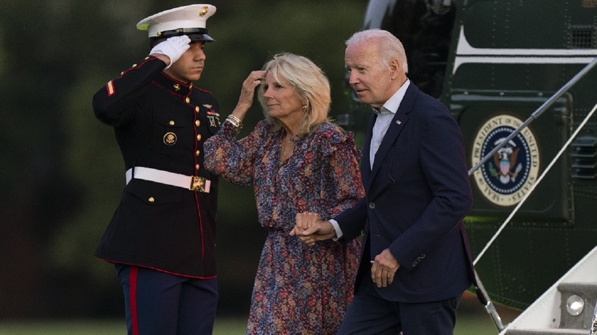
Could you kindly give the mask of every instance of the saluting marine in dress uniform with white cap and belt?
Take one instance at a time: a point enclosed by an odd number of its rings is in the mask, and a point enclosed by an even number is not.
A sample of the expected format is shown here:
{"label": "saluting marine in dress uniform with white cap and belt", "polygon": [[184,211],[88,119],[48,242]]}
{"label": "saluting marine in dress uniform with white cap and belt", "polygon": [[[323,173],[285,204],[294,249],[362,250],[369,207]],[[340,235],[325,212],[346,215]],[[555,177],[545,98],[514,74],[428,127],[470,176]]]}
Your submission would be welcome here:
{"label": "saluting marine in dress uniform with white cap and belt", "polygon": [[141,20],[150,55],[93,98],[113,126],[127,186],[94,254],[115,263],[128,334],[211,334],[216,313],[217,184],[203,143],[220,127],[214,97],[196,88],[216,8],[189,5]]}

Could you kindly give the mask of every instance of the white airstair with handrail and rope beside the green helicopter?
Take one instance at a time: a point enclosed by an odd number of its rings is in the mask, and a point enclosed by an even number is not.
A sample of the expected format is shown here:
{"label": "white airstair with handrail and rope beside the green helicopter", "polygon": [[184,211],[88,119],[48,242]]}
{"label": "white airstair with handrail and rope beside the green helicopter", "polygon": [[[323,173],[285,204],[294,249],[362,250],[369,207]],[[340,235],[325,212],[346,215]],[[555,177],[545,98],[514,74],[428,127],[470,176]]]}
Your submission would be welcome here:
{"label": "white airstair with handrail and rope beside the green helicopter", "polygon": [[[537,109],[531,117],[526,120],[518,129],[512,132],[507,137],[502,145],[497,145],[494,150],[488,153],[484,159],[482,159],[475,167],[469,170],[471,175],[476,169],[479,168],[487,159],[493,156],[503,144],[506,144],[510,139],[516,136],[522,131],[529,123],[537,119],[547,110],[547,108],[553,104],[559,97],[561,97],[571,86],[574,85],[581,77],[583,77],[589,70],[597,64],[597,58],[581,70],[573,79],[570,80],[566,85],[562,86],[556,94],[554,94],[549,100],[547,100],[543,106]],[[590,116],[597,110],[597,105],[593,107],[593,110],[587,115],[586,119],[581,123],[578,129],[574,132],[568,142],[564,145],[562,150],[553,159],[552,163],[547,166],[543,175],[549,171],[553,163],[558,157],[564,152],[564,150],[570,145],[574,137],[578,134],[578,131],[584,126]],[[488,247],[500,234],[501,230],[510,221],[512,216],[518,211],[522,203],[532,193],[534,187],[543,178],[541,175],[537,179],[537,182],[531,187],[531,190],[525,195],[520,201],[518,206],[512,211],[510,216],[504,221],[500,229],[496,232],[493,238],[489,241],[487,246],[479,253],[473,265],[478,262],[479,258],[484,255]],[[597,243],[597,241],[596,241]],[[475,274],[476,275],[476,274]],[[573,268],[571,268],[562,278],[560,278],[549,290],[541,295],[531,306],[529,306],[521,315],[519,315],[510,324],[503,325],[501,318],[497,314],[493,303],[489,297],[489,294],[484,289],[481,280],[476,275],[478,281],[478,297],[485,305],[485,309],[490,314],[494,324],[500,331],[500,335],[597,335],[597,247],[589,252],[583,259],[581,259]]]}

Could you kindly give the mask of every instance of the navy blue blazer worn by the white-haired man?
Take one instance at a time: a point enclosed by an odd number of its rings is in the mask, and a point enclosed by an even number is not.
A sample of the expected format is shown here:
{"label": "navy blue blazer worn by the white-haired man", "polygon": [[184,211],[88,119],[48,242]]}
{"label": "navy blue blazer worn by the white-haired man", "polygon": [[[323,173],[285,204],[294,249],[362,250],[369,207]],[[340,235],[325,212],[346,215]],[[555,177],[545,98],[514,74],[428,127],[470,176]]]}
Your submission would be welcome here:
{"label": "navy blue blazer worn by the white-haired man", "polygon": [[[365,198],[338,215],[348,241],[364,231],[355,288],[384,249],[398,260],[381,297],[401,302],[448,299],[475,283],[463,218],[472,193],[463,137],[450,111],[411,82],[370,168],[372,113],[361,175]],[[367,276],[365,276],[367,275]]]}

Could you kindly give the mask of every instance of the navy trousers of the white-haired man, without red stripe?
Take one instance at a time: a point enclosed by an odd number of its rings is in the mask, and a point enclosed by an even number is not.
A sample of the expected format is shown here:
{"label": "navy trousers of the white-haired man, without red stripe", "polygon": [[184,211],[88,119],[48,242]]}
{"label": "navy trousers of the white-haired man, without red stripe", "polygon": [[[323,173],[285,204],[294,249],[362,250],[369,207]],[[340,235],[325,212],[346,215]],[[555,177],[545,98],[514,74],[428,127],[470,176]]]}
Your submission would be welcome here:
{"label": "navy trousers of the white-haired man, without red stripe", "polygon": [[337,335],[452,335],[462,296],[424,303],[383,299],[371,272],[356,290]]}

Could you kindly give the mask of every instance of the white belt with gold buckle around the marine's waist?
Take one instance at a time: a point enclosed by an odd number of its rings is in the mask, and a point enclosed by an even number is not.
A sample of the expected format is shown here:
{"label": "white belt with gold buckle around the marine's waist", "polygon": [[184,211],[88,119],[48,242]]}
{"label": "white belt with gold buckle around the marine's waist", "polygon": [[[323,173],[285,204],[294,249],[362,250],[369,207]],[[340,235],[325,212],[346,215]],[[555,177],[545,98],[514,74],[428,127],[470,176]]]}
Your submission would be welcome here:
{"label": "white belt with gold buckle around the marine's waist", "polygon": [[152,168],[143,168],[142,166],[136,166],[127,170],[127,184],[131,181],[131,179],[133,179],[133,169],[135,170],[135,179],[143,179],[147,181],[159,182],[160,184],[182,187],[186,188],[187,190],[210,193],[211,181],[206,178],[186,176],[181,175],[180,173]]}

